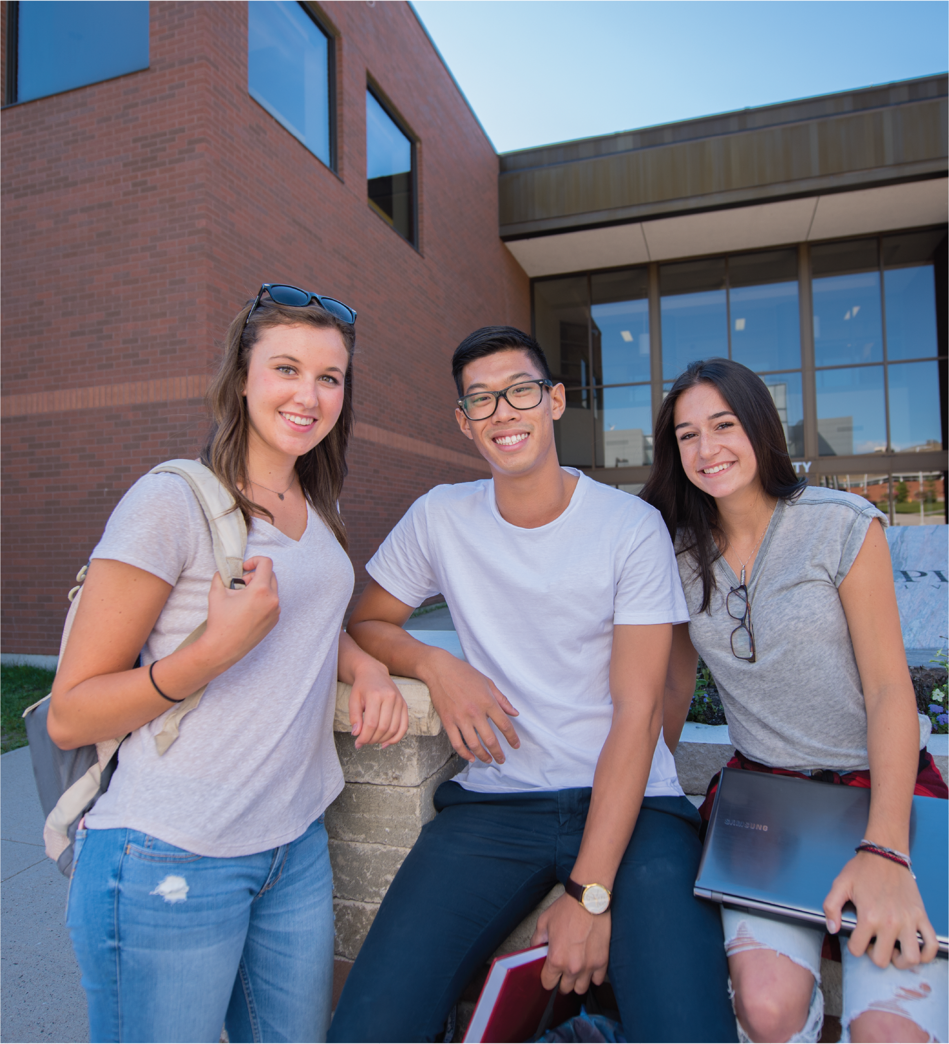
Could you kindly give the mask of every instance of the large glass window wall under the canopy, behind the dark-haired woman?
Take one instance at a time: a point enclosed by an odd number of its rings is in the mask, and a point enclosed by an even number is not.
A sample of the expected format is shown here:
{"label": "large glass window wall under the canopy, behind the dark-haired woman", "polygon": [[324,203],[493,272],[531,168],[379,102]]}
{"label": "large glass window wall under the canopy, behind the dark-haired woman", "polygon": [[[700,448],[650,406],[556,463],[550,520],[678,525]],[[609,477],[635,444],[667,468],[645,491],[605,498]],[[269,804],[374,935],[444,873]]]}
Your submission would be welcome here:
{"label": "large glass window wall under the canopy, behind the dark-haired woman", "polygon": [[[949,283],[945,228],[537,279],[535,335],[567,389],[561,460],[650,465],[664,393],[689,362],[710,356],[760,375],[801,474],[805,456],[867,456],[879,471],[870,458],[941,451],[949,358],[939,355],[940,279]],[[926,481],[924,468],[916,484]],[[940,500],[942,489],[940,478]]]}

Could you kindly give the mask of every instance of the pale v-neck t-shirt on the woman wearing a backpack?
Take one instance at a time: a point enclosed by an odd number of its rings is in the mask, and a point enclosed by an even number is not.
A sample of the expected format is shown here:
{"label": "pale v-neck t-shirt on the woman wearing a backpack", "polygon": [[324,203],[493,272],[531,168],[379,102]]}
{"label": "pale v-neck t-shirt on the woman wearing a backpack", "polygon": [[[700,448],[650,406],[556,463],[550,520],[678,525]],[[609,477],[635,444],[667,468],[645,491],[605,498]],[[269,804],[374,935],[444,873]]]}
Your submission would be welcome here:
{"label": "pale v-neck t-shirt on the woman wearing a backpack", "polygon": [[[312,507],[298,542],[253,519],[247,557],[257,554],[273,560],[279,622],[208,686],[164,755],[154,737],[165,714],[128,737],[108,790],[86,816],[91,829],[141,830],[199,855],[249,855],[299,837],[342,790],[333,716],[352,566]],[[211,532],[178,475],[140,478],[92,557],[138,566],[173,586],[144,664],[174,651],[206,618],[216,571]]]}

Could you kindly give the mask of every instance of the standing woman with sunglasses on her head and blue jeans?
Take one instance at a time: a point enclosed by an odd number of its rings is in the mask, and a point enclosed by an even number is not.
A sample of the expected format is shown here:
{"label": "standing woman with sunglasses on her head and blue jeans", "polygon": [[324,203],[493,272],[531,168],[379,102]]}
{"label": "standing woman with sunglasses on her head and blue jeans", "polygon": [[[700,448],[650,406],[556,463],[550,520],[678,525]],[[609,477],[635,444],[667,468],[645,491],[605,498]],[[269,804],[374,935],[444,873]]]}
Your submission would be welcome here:
{"label": "standing woman with sunglasses on her head and blue jeans", "polygon": [[[67,750],[129,734],[76,834],[67,911],[96,1044],[217,1044],[225,1020],[232,1044],[325,1038],[337,678],[358,746],[408,727],[340,630],[355,318],[265,284],[227,332],[202,460],[247,523],[244,590],[224,587],[177,474],[140,478],[93,551],[47,727]],[[166,717],[205,685],[163,751]]]}

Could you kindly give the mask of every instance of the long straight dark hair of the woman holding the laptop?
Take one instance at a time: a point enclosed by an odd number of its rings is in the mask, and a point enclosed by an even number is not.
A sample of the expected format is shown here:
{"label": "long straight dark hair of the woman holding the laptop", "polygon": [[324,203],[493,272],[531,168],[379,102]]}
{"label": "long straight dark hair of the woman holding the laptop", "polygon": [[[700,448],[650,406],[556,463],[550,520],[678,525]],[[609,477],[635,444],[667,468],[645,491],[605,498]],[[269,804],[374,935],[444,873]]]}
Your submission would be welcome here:
{"label": "long straight dark hair of the woman holding the laptop", "polygon": [[689,481],[682,468],[676,438],[676,402],[697,384],[716,387],[745,429],[758,465],[758,478],[770,497],[792,500],[807,479],[795,475],[787,452],[781,418],[766,385],[755,373],[731,359],[700,359],[690,362],[659,407],[653,440],[653,470],[639,496],[658,507],[673,541],[678,537],[680,554],[691,555],[696,576],[702,577],[702,611],[708,609],[715,582],[712,566],[722,551],[715,500]]}

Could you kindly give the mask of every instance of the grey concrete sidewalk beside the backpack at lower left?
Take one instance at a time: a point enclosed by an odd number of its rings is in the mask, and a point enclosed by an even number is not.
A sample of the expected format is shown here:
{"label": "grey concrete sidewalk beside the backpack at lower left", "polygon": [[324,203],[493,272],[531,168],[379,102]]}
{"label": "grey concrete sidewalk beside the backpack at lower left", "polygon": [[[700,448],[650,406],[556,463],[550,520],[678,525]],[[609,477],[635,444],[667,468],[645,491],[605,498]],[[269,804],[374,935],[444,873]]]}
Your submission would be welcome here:
{"label": "grey concrete sidewalk beside the backpack at lower left", "polygon": [[68,881],[43,851],[26,746],[0,756],[0,1041],[89,1044],[86,995],[66,930]]}

